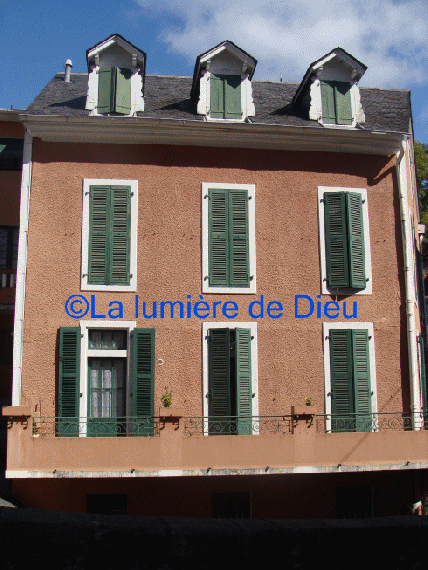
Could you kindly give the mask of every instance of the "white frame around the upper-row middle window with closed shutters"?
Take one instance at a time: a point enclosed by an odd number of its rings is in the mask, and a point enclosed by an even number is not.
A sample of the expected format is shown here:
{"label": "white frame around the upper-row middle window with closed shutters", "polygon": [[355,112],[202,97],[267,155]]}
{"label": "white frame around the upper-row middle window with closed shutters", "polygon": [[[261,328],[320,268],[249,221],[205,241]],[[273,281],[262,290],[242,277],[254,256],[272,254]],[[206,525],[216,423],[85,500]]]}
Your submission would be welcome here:
{"label": "white frame around the upper-row middle window with closed shutters", "polygon": [[[248,191],[248,240],[249,240],[249,273],[252,279],[249,287],[219,287],[210,286],[208,280],[208,190],[247,190]],[[202,292],[203,293],[256,293],[256,209],[254,184],[225,184],[219,182],[202,182]]]}

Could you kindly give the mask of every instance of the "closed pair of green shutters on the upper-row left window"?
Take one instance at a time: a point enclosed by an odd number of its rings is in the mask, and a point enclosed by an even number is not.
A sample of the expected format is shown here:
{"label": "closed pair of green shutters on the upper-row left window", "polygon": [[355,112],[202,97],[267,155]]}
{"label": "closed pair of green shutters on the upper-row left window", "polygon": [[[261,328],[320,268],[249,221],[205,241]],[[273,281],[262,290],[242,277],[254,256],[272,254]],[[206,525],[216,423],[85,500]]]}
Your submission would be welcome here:
{"label": "closed pair of green shutters on the upper-row left window", "polygon": [[89,190],[88,283],[130,283],[130,186]]}

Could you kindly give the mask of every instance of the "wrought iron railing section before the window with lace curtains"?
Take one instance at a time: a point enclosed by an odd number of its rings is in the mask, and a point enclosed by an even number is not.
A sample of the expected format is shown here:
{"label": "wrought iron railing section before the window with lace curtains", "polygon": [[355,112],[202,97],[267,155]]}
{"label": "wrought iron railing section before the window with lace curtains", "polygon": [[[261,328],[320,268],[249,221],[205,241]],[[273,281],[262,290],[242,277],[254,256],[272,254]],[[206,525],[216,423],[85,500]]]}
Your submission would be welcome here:
{"label": "wrought iron railing section before the window with lace curtains", "polygon": [[35,437],[145,437],[159,436],[159,418],[33,417]]}

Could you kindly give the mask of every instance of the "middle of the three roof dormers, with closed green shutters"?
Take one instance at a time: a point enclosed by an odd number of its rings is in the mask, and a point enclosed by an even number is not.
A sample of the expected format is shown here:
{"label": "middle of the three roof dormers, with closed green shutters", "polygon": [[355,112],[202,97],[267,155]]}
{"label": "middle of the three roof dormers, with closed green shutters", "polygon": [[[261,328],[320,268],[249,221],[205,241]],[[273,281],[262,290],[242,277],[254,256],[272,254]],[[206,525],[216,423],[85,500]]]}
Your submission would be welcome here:
{"label": "middle of the three roof dormers, with closed green shutters", "polygon": [[191,98],[208,120],[255,115],[251,79],[257,60],[226,40],[196,58]]}

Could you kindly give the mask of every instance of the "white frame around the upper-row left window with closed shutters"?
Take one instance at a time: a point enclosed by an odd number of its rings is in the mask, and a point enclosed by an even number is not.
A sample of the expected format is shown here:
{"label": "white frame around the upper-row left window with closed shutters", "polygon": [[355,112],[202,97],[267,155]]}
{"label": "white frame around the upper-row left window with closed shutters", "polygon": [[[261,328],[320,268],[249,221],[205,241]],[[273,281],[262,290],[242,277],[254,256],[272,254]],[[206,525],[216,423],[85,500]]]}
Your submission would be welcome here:
{"label": "white frame around the upper-row left window with closed shutters", "polygon": [[[131,224],[130,224],[130,282],[129,285],[112,283],[110,285],[88,283],[89,263],[89,188],[90,186],[130,186],[131,187]],[[83,215],[82,215],[82,291],[137,291],[137,235],[138,235],[138,180],[119,180],[104,178],[84,178],[83,180]]]}

